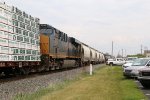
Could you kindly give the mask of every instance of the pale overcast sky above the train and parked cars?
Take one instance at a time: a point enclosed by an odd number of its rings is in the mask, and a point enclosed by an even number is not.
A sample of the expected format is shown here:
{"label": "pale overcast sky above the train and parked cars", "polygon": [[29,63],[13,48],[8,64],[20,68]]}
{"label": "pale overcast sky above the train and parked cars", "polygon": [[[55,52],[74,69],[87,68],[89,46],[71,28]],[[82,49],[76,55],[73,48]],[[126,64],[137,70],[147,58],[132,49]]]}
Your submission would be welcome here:
{"label": "pale overcast sky above the train and parked cars", "polygon": [[1,0],[102,52],[150,48],[150,0]]}

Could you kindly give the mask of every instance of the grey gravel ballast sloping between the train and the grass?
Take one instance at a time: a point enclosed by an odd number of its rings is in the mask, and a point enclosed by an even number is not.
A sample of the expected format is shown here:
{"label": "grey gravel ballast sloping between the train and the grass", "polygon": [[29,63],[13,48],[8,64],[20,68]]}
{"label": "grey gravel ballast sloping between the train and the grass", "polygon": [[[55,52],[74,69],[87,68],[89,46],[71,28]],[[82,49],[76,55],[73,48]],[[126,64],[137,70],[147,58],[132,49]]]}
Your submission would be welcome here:
{"label": "grey gravel ballast sloping between the train and the grass", "polygon": [[[95,65],[98,68],[101,65]],[[61,83],[64,80],[74,79],[82,72],[87,72],[89,67],[76,68],[63,72],[39,75],[32,78],[25,78],[16,81],[0,83],[0,100],[12,100],[17,94],[34,93],[49,85]]]}

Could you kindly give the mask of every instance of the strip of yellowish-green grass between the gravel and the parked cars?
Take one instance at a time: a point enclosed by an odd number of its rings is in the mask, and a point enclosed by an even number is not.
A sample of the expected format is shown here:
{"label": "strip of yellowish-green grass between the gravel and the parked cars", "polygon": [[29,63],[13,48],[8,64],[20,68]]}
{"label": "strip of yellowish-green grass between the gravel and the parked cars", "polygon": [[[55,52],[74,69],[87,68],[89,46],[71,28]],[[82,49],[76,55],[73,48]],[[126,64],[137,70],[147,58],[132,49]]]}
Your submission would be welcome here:
{"label": "strip of yellowish-green grass between the gravel and the parked cars", "polygon": [[131,79],[125,79],[120,67],[103,67],[93,76],[65,81],[31,95],[19,95],[16,100],[147,100]]}

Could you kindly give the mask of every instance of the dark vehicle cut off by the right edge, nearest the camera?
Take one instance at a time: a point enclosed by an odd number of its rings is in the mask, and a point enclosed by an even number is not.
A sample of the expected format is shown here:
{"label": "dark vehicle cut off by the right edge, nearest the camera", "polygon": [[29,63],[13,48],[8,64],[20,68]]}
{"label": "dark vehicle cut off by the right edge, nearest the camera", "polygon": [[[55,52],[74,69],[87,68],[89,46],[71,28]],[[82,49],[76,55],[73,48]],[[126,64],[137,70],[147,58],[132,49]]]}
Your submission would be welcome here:
{"label": "dark vehicle cut off by the right edge, nearest the camera", "polygon": [[150,88],[150,62],[147,68],[140,70],[138,80],[145,88]]}

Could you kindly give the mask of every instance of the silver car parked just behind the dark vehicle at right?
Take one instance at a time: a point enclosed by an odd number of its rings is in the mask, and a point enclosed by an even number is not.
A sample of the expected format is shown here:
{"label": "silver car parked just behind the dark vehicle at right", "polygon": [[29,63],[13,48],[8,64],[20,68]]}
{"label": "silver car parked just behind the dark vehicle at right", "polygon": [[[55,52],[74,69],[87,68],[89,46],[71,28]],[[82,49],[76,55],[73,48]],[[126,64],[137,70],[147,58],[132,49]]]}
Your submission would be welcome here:
{"label": "silver car parked just behind the dark vehicle at right", "polygon": [[125,77],[138,77],[139,70],[147,68],[150,58],[140,58],[132,63],[130,67],[124,68],[123,75]]}

